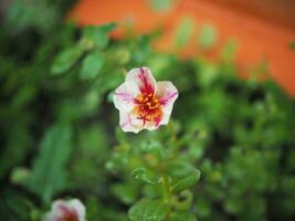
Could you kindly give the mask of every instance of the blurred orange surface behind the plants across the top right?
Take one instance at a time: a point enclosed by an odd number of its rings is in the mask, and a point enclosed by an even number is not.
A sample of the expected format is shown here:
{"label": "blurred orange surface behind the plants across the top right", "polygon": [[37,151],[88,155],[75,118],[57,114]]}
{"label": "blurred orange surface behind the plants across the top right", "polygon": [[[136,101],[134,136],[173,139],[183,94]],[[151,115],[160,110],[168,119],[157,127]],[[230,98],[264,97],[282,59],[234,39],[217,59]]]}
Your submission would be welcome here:
{"label": "blurred orange surface behind the plants across the top right", "polygon": [[[175,0],[165,11],[155,11],[149,0],[81,0],[70,18],[81,25],[131,21],[137,33],[162,28],[156,44],[162,51],[175,51],[173,34],[181,19],[192,19],[196,32],[210,23],[218,30],[215,52],[229,40],[238,42],[235,62],[242,75],[266,61],[271,76],[295,96],[295,50],[289,46],[295,42],[294,11],[293,0]],[[122,38],[124,31],[113,34]],[[197,54],[193,41],[180,51],[181,56]]]}

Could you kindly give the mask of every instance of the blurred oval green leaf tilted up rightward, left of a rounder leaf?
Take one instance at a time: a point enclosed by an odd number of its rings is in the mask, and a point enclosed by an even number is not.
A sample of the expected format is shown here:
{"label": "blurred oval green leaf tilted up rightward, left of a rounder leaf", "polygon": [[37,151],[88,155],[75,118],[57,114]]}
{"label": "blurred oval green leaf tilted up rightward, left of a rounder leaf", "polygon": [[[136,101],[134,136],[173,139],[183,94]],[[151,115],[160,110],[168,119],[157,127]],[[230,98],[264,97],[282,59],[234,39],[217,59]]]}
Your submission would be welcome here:
{"label": "blurred oval green leaf tilted up rightward, left of a rounder leaf", "polygon": [[83,50],[81,48],[70,48],[62,51],[53,61],[51,73],[60,75],[69,71],[82,56]]}

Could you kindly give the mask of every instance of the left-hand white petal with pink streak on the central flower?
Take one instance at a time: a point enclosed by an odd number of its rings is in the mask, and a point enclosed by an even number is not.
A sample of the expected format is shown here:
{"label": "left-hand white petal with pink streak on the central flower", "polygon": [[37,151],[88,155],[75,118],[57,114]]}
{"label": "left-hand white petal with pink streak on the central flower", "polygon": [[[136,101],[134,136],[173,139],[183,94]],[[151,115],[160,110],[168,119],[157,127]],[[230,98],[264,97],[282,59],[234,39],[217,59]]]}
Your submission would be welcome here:
{"label": "left-hand white petal with pink streak on the central flower", "polygon": [[133,84],[123,83],[114,94],[114,104],[117,109],[130,112],[134,108],[134,101],[137,96],[137,87],[133,88]]}

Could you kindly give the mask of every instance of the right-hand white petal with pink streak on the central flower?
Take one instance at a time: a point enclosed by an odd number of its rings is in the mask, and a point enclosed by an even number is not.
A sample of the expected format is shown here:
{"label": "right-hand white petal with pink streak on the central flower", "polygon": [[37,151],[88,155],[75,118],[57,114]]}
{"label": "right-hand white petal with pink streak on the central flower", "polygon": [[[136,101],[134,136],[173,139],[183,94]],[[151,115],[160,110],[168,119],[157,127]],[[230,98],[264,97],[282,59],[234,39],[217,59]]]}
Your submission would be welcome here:
{"label": "right-hand white petal with pink streak on the central flower", "polygon": [[173,108],[173,103],[178,97],[178,91],[176,86],[169,82],[158,82],[156,96],[158,97],[160,105],[162,107],[162,119],[160,125],[167,125]]}

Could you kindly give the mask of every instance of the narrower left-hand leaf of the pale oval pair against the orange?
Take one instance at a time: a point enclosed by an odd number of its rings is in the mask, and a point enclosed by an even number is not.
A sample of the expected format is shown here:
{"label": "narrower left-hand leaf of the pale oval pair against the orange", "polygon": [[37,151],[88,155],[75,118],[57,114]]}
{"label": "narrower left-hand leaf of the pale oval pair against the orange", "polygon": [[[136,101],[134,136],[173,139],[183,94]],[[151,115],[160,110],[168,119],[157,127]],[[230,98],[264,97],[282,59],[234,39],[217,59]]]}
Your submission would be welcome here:
{"label": "narrower left-hand leaf of the pale oval pair against the orange", "polygon": [[192,35],[192,32],[193,32],[193,28],[194,28],[194,24],[190,18],[181,19],[175,33],[176,48],[182,48],[189,42]]}

